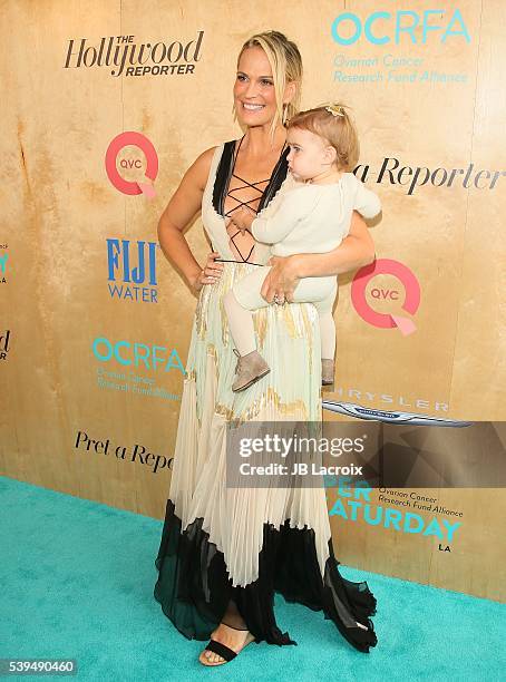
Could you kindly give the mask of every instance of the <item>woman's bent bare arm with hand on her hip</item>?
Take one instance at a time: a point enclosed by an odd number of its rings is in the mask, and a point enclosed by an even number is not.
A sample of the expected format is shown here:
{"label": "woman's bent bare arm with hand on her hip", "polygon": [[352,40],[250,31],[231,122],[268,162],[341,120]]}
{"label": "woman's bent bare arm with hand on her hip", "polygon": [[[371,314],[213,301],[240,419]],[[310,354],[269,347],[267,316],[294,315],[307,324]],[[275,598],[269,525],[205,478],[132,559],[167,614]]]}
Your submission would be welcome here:
{"label": "woman's bent bare arm with hand on her hip", "polygon": [[[207,282],[203,281],[203,270],[189,250],[183,232],[201,211],[214,149],[215,147],[206,149],[186,170],[163,212],[157,228],[159,245],[165,256],[196,291]],[[216,266],[220,264],[216,263]]]}

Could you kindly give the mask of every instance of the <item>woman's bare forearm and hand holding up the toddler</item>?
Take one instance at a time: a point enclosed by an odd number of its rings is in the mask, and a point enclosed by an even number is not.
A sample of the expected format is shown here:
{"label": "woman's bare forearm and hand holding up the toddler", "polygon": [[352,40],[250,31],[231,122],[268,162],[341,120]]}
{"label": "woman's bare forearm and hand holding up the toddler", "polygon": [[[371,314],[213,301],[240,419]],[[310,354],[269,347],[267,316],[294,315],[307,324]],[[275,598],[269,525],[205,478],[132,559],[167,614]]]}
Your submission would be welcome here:
{"label": "woman's bare forearm and hand holding up the toddler", "polygon": [[[262,296],[271,303],[274,294],[292,301],[299,280],[338,275],[374,260],[374,243],[363,217],[353,211],[348,236],[329,253],[301,253],[288,257],[274,256],[273,265],[262,286]],[[283,296],[284,294],[284,296]]]}

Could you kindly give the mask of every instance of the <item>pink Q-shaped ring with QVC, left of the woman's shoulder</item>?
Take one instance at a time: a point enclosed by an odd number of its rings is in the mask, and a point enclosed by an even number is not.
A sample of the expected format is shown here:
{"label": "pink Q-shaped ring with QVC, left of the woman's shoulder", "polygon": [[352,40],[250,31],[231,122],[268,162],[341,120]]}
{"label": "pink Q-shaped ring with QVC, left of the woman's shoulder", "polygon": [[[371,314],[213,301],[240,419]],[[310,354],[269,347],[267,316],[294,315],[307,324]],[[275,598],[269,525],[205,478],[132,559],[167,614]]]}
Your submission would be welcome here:
{"label": "pink Q-shaped ring with QVC, left of the woman's shoulder", "polygon": [[[116,159],[118,157],[119,152],[128,146],[133,145],[138,147],[144,152],[144,156],[146,157],[146,177],[150,181],[155,181],[158,175],[158,157],[156,155],[155,147],[152,143],[142,135],[140,133],[120,133],[117,135],[106,152],[106,173],[107,177],[110,179],[113,185],[119,192],[124,194],[144,194],[148,198],[153,198],[155,196],[155,189],[153,185],[148,183],[134,183],[124,179],[117,168],[116,168]],[[135,164],[137,166],[137,164]]]}

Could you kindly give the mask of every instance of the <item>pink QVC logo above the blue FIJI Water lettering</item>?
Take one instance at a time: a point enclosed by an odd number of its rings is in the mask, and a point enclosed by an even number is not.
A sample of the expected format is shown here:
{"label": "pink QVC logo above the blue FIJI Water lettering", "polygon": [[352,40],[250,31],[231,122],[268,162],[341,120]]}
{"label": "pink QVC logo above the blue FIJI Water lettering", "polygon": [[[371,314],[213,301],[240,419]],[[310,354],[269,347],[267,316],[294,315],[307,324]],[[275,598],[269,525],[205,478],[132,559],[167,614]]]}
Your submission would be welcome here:
{"label": "pink QVC logo above the blue FIJI Water lettering", "polygon": [[155,196],[153,183],[158,175],[158,156],[153,143],[142,133],[129,130],[117,135],[107,147],[105,164],[107,177],[123,194]]}

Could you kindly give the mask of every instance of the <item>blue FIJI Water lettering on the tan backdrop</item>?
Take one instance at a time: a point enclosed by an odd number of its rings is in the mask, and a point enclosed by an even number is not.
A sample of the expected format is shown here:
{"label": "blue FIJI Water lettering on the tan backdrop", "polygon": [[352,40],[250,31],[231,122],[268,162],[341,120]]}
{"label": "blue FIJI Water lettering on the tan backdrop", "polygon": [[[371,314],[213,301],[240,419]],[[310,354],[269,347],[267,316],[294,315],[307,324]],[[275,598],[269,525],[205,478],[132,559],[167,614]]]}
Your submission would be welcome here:
{"label": "blue FIJI Water lettering on the tan backdrop", "polygon": [[[111,299],[158,303],[156,242],[108,238],[107,272]],[[120,283],[119,283],[120,282]]]}

